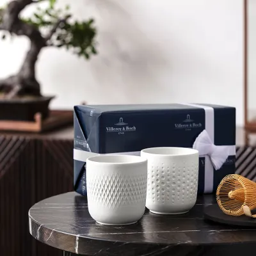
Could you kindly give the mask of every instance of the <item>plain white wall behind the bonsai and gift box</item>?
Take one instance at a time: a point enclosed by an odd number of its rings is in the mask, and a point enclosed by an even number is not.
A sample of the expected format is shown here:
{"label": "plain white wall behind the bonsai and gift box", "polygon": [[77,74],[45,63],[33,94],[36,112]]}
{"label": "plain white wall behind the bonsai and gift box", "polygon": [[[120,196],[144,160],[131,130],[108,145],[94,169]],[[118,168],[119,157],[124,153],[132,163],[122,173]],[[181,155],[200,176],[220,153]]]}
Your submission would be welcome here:
{"label": "plain white wall behind the bonsai and gift box", "polygon": [[[6,0],[0,0],[6,3]],[[45,49],[36,70],[52,108],[208,102],[236,106],[243,124],[243,0],[59,0],[95,17],[91,61]],[[17,71],[28,42],[0,42],[0,77]]]}

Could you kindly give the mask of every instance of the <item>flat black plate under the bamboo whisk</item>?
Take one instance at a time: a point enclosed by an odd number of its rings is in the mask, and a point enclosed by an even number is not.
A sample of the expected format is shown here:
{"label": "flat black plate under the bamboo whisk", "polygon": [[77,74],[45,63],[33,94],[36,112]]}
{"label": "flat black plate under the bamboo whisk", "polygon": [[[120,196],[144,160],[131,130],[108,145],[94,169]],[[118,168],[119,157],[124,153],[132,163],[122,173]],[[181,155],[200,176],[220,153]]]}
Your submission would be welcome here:
{"label": "flat black plate under the bamboo whisk", "polygon": [[256,219],[242,216],[230,216],[221,211],[218,204],[210,205],[204,209],[204,218],[207,220],[224,223],[229,225],[237,225],[243,227],[256,227]]}

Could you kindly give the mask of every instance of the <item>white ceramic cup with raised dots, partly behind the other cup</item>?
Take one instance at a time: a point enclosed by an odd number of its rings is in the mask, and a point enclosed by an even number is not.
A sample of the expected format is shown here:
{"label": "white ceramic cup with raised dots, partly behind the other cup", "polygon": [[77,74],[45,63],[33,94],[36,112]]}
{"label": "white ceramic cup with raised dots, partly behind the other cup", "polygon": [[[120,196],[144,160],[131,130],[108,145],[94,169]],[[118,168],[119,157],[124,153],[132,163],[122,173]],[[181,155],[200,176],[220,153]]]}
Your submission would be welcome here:
{"label": "white ceramic cup with raised dots, partly behind the other cup", "polygon": [[182,214],[196,202],[198,150],[192,148],[146,148],[148,159],[146,207],[156,214]]}

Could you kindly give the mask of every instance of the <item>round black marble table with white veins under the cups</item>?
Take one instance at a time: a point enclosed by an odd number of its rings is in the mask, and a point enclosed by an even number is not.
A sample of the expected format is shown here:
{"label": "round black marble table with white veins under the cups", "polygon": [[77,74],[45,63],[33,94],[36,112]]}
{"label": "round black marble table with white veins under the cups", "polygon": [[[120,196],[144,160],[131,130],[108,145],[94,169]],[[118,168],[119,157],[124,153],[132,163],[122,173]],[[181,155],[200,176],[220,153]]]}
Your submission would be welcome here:
{"label": "round black marble table with white veins under the cups", "polygon": [[187,214],[157,215],[146,209],[138,223],[128,226],[97,224],[86,197],[75,192],[53,196],[29,210],[29,232],[64,255],[230,255],[255,252],[256,229],[204,220],[204,207],[213,196],[198,196]]}

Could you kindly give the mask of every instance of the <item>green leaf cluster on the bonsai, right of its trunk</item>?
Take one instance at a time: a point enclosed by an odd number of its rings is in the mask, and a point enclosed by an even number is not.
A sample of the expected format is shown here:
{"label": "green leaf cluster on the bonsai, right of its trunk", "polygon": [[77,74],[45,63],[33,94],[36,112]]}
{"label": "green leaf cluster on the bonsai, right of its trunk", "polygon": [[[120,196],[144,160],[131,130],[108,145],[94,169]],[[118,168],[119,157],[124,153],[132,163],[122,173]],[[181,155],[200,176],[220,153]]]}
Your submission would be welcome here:
{"label": "green leaf cluster on the bonsai, right of its trunk", "polygon": [[20,19],[40,30],[47,45],[65,47],[67,51],[72,51],[86,60],[97,54],[97,30],[94,20],[72,20],[69,5],[60,9],[56,8],[56,0],[48,0],[47,3],[48,6],[38,6],[31,16]]}

